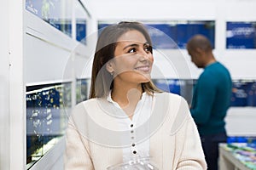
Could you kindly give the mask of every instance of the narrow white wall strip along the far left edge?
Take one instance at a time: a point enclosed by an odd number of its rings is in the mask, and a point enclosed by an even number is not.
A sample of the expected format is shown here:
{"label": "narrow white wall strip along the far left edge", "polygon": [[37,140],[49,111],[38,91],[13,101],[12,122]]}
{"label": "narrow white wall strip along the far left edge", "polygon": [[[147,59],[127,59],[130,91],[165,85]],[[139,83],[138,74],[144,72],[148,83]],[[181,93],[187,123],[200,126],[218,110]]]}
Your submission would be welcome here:
{"label": "narrow white wall strip along the far left edge", "polygon": [[[1,1],[0,20],[9,23],[9,3]],[[9,24],[0,31],[0,169],[9,169]]]}

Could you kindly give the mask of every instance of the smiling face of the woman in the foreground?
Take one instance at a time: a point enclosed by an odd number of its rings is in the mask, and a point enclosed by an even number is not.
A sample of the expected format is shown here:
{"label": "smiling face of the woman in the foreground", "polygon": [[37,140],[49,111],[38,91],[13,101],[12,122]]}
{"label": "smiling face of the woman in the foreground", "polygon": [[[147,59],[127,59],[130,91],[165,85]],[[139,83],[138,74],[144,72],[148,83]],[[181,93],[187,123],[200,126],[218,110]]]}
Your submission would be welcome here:
{"label": "smiling face of the woman in the foreground", "polygon": [[132,83],[149,82],[154,61],[150,50],[143,33],[136,30],[125,32],[119,37],[114,51],[114,78]]}

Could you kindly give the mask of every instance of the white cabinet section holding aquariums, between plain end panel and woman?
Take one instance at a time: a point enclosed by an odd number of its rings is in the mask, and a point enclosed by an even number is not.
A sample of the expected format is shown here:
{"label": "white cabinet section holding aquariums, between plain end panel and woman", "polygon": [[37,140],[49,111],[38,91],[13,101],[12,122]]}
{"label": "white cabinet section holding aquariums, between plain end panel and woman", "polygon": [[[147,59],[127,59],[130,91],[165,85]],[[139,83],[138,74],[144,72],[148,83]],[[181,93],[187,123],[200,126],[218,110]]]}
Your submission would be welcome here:
{"label": "white cabinet section holding aquariums, between plain end panel and woman", "polygon": [[76,104],[74,61],[88,59],[90,13],[78,0],[26,1],[24,18],[26,168],[62,169],[65,127]]}

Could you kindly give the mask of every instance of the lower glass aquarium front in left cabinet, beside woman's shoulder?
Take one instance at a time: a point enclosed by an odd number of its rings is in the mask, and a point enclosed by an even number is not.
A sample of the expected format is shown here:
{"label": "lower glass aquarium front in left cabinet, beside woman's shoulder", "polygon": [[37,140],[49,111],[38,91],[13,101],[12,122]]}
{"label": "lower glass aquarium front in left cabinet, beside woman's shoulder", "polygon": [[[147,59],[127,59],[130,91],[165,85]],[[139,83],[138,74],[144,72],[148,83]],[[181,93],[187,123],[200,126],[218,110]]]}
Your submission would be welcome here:
{"label": "lower glass aquarium front in left cabinet, beside woman's shoulder", "polygon": [[26,87],[27,168],[61,139],[71,105],[71,83]]}

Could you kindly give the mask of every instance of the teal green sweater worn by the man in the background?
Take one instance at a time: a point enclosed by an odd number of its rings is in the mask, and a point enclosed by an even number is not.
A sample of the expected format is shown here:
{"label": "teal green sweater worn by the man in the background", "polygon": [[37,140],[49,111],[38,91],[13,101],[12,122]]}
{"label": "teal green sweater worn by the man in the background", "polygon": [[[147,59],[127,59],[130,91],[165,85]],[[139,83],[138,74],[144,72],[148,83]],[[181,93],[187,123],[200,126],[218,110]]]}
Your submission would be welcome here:
{"label": "teal green sweater worn by the man in the background", "polygon": [[230,72],[219,62],[207,65],[194,88],[190,112],[201,135],[225,132],[224,117],[230,106]]}

